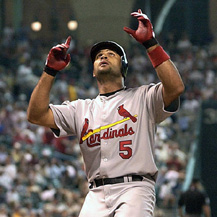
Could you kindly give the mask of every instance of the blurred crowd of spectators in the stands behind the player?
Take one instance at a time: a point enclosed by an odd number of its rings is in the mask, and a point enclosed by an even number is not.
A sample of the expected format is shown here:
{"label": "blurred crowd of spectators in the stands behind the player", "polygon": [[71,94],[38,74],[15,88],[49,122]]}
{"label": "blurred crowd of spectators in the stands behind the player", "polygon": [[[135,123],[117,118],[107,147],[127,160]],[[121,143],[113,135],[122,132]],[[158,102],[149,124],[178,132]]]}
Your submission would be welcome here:
{"label": "blurred crowd of spectators in the stands behind the player", "polygon": [[[195,46],[186,34],[169,33],[159,41],[186,87],[180,111],[161,123],[156,135],[155,216],[163,217],[161,209],[176,206],[185,179],[200,103],[217,100],[217,49],[215,43]],[[50,129],[26,119],[29,97],[53,45],[11,27],[0,38],[0,217],[75,217],[88,191],[77,138],[54,138]],[[73,40],[71,63],[56,78],[52,103],[98,94],[89,50]],[[132,41],[126,53],[127,87],[158,82],[141,46]]]}

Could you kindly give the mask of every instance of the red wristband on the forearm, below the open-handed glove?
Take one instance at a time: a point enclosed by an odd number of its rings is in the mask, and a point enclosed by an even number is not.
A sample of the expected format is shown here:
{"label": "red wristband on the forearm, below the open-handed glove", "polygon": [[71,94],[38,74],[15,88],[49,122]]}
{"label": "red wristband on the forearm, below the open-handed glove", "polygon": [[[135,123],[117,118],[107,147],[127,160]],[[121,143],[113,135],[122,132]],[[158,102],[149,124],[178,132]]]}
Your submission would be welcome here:
{"label": "red wristband on the forearm, below the open-handed glove", "polygon": [[170,59],[170,56],[164,51],[161,46],[157,46],[154,50],[148,53],[148,57],[154,68]]}

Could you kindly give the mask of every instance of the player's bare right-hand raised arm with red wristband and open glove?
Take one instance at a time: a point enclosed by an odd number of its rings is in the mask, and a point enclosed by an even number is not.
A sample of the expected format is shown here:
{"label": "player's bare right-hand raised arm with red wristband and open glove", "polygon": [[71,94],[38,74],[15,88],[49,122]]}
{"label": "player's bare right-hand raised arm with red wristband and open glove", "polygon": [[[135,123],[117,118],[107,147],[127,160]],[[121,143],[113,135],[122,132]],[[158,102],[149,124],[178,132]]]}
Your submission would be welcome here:
{"label": "player's bare right-hand raised arm with red wristband and open glove", "polygon": [[184,84],[176,66],[169,55],[163,50],[155,39],[152,24],[149,18],[139,9],[131,13],[138,19],[137,30],[124,27],[124,31],[134,37],[146,49],[150,61],[155,68],[159,79],[163,84],[163,100],[165,107],[168,107],[184,91]]}

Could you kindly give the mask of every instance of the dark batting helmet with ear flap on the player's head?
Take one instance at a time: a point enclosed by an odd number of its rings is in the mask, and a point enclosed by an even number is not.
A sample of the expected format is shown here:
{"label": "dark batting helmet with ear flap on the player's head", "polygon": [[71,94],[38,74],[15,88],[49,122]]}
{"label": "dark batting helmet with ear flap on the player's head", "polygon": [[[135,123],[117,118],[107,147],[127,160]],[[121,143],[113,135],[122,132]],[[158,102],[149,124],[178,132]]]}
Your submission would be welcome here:
{"label": "dark batting helmet with ear flap on the player's head", "polygon": [[114,41],[102,41],[102,42],[94,44],[90,50],[90,57],[91,57],[92,63],[94,63],[97,53],[103,49],[113,50],[121,57],[121,63],[122,63],[121,73],[122,73],[122,76],[126,78],[127,70],[128,70],[127,57],[124,52],[124,49]]}

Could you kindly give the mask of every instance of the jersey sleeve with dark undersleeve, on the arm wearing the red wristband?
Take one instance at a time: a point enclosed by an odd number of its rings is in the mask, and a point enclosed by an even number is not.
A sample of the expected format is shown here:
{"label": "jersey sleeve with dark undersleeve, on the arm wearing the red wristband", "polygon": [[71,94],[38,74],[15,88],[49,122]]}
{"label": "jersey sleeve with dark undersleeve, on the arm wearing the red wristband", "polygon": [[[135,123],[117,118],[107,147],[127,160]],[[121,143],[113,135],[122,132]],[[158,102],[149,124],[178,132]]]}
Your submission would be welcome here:
{"label": "jersey sleeve with dark undersleeve, on the arm wearing the red wristband", "polygon": [[155,85],[151,84],[146,93],[148,112],[155,123],[162,122],[179,109],[179,98],[172,102],[168,108],[165,108],[162,88],[163,85],[161,82]]}

